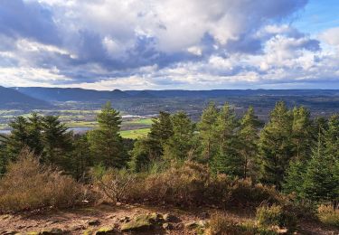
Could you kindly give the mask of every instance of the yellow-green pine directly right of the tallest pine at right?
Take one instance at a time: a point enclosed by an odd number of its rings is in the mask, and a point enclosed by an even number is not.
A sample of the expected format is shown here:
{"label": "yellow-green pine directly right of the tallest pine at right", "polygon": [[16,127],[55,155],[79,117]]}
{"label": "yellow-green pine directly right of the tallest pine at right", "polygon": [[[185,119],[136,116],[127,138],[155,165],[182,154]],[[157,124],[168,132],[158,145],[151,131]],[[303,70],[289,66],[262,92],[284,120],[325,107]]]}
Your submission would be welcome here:
{"label": "yellow-green pine directly right of the tallest pine at right", "polygon": [[310,112],[304,107],[293,109],[292,142],[296,159],[306,160],[312,155],[315,127]]}

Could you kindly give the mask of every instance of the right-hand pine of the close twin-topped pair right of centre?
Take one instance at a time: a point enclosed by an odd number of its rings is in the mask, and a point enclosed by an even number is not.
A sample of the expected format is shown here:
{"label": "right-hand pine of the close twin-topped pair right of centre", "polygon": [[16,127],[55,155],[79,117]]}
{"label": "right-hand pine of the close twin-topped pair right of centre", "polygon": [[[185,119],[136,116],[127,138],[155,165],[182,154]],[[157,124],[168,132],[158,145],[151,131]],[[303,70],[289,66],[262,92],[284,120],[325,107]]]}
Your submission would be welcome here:
{"label": "right-hand pine of the close twin-topped pair right of centre", "polygon": [[215,134],[217,135],[218,152],[212,158],[212,169],[216,173],[242,176],[243,163],[240,156],[240,141],[237,136],[238,122],[234,109],[224,104],[219,112]]}

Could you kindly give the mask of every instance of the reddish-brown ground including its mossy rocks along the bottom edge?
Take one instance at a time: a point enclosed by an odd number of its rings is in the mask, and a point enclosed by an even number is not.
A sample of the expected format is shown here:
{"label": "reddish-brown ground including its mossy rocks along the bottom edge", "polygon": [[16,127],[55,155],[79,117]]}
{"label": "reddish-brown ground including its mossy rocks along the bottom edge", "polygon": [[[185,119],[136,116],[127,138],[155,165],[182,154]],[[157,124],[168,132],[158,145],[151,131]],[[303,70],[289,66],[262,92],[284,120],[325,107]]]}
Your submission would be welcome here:
{"label": "reddish-brown ground including its mossy rocks along the bottom edge", "polygon": [[[99,205],[65,211],[0,215],[0,234],[197,234],[215,209],[183,211],[141,205]],[[232,221],[250,221],[244,211],[228,212]],[[303,222],[297,234],[339,234],[339,230]]]}

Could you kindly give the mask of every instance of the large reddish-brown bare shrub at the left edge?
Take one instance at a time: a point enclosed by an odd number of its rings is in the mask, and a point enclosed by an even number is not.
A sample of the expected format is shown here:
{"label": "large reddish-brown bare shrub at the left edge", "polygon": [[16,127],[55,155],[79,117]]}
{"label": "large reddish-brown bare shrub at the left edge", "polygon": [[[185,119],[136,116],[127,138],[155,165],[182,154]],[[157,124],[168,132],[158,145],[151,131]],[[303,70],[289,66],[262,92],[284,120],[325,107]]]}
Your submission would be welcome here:
{"label": "large reddish-brown bare shrub at the left edge", "polygon": [[0,211],[70,207],[85,200],[86,193],[71,176],[39,164],[31,152],[24,150],[0,180]]}

